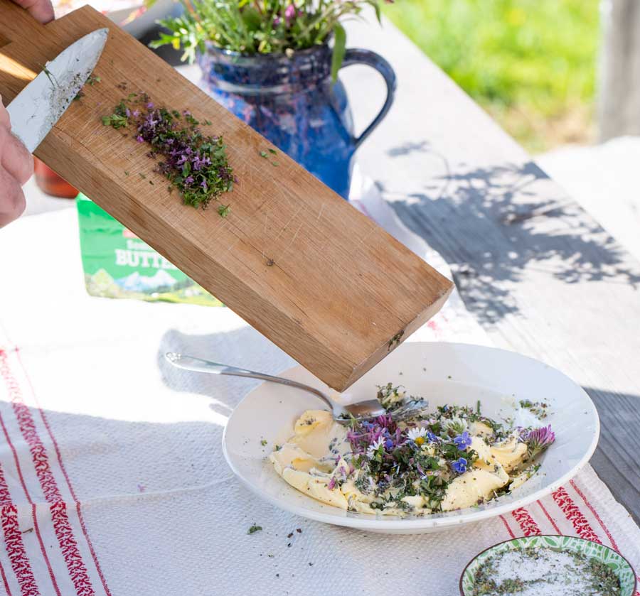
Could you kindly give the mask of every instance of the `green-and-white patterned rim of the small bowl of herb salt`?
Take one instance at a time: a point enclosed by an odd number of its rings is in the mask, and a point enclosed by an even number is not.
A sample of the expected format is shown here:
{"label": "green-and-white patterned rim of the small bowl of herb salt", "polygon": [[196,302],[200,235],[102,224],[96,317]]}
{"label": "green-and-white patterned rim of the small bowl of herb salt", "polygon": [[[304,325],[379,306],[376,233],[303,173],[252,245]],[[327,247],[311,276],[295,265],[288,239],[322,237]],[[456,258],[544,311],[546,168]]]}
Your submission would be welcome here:
{"label": "green-and-white patterned rim of the small bowl of herb salt", "polygon": [[512,551],[515,548],[526,548],[527,546],[545,546],[553,548],[554,551],[582,553],[588,558],[597,559],[617,573],[620,578],[620,596],[634,596],[636,593],[637,582],[633,568],[626,558],[619,555],[612,548],[575,536],[547,534],[543,536],[523,536],[522,538],[499,542],[476,555],[462,572],[460,594],[462,596],[471,596],[473,594],[476,571],[487,558],[498,553]]}

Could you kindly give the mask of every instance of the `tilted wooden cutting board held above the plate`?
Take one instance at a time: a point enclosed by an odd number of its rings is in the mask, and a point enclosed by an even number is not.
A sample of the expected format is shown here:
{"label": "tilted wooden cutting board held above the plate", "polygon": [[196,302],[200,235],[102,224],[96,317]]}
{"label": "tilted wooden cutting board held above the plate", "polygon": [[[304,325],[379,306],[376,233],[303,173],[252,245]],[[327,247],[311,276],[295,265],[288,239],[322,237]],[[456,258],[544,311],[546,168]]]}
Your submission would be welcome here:
{"label": "tilted wooden cutting board held above the plate", "polygon": [[[452,290],[447,278],[287,156],[278,152],[272,166],[260,156],[272,147],[264,137],[88,6],[41,26],[0,0],[5,104],[47,60],[101,27],[110,29],[95,69],[101,82],[85,85],[38,158],[338,391],[437,313]],[[139,91],[223,135],[238,176],[224,197],[228,217],[183,205],[152,171],[145,143],[102,125]]]}

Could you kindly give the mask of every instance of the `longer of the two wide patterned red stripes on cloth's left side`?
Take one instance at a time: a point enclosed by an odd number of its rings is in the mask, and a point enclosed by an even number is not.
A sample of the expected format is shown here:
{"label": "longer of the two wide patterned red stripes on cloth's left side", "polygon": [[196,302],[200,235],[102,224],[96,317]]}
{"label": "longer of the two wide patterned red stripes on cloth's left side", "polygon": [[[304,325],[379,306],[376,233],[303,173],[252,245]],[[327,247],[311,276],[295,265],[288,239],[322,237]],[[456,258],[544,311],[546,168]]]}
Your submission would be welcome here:
{"label": "longer of the two wide patterned red stripes on cloth's left side", "polygon": [[[50,505],[53,531],[56,538],[58,538],[60,551],[63,553],[75,592],[78,596],[95,596],[87,568],[78,549],[78,542],[73,535],[73,529],[67,515],[67,506],[63,502],[62,494],[58,489],[58,484],[55,482],[55,477],[49,465],[47,450],[40,440],[31,412],[23,402],[21,388],[14,375],[11,374],[6,352],[0,352],[0,361],[2,369],[6,371],[3,376],[5,379],[11,379],[11,389],[9,391],[11,405],[14,408],[20,432],[29,446],[33,467],[36,469],[36,475],[45,499]],[[35,511],[33,513],[35,515]]]}

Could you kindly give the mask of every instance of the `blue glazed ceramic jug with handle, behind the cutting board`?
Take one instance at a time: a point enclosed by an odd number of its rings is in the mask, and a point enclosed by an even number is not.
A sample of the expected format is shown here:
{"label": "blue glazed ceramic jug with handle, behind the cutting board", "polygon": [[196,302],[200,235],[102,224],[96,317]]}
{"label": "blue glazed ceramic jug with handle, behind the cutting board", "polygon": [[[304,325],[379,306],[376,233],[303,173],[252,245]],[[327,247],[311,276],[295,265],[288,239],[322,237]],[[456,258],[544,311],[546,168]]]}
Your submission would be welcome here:
{"label": "blue glazed ceramic jug with handle, behind the cutting board", "polygon": [[366,64],[387,85],[380,113],[358,137],[342,83],[331,82],[331,48],[243,55],[213,46],[198,56],[201,87],[327,186],[348,198],[351,158],[393,102],[395,75],[369,50],[348,49],[343,67]]}

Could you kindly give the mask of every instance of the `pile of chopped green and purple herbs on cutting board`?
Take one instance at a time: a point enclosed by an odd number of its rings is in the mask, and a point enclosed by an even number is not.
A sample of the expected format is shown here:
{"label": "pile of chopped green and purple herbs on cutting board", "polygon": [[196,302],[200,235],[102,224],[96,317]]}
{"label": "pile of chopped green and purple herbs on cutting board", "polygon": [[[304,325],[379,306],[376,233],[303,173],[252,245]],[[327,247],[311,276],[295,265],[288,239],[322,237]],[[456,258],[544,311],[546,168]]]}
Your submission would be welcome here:
{"label": "pile of chopped green and purple herbs on cutting board", "polygon": [[[166,176],[185,205],[206,209],[219,202],[237,181],[229,165],[221,136],[203,134],[200,122],[188,110],[156,107],[146,93],[130,93],[102,124],[114,129],[134,128],[139,143],[149,143],[150,158],[157,158],[156,172]],[[229,205],[220,203],[218,214],[227,217]]]}

